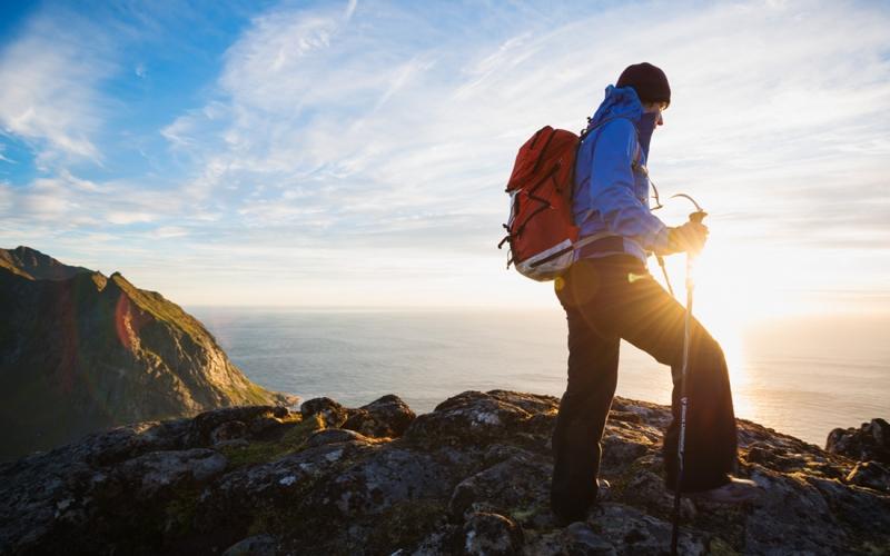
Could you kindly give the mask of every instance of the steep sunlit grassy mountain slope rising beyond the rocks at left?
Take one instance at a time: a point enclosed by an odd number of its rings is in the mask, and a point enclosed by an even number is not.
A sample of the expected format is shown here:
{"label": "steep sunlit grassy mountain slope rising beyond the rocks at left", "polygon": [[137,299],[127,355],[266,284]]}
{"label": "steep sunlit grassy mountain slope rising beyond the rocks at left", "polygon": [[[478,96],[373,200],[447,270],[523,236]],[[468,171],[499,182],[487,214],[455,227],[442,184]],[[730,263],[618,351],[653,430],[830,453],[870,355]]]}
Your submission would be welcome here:
{"label": "steep sunlit grassy mountain slope rising beyond the rocks at left", "polygon": [[0,249],[0,459],[148,419],[294,396],[251,383],[160,294]]}

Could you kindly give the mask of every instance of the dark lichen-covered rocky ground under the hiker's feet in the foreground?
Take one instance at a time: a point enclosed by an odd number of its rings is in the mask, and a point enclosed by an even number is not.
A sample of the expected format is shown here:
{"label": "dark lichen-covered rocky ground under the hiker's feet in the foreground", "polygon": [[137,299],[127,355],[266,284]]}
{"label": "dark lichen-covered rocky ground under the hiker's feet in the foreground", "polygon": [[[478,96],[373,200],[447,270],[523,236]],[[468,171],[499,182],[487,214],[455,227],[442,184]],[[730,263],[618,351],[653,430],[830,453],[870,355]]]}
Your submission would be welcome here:
{"label": "dark lichen-covered rocky ground under the hiker's feet in the foreground", "polygon": [[[617,398],[607,498],[561,527],[548,507],[558,400],[466,391],[415,416],[360,408],[219,409],[144,423],[0,465],[0,554],[661,554],[672,498],[666,407]],[[682,554],[890,554],[890,426],[832,451],[740,421],[741,475],[764,495],[684,500]]]}

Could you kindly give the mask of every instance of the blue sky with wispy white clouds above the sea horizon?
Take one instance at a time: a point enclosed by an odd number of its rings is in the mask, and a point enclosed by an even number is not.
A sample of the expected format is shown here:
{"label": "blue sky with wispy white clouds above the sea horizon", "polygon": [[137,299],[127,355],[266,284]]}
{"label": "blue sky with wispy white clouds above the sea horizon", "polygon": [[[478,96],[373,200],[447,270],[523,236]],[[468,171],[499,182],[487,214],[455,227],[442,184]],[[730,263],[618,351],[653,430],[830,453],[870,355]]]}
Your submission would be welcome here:
{"label": "blue sky with wispy white clouds above the sea horizon", "polygon": [[887,2],[0,6],[2,248],[184,306],[558,307],[496,248],[516,150],[649,61],[696,304],[890,314]]}

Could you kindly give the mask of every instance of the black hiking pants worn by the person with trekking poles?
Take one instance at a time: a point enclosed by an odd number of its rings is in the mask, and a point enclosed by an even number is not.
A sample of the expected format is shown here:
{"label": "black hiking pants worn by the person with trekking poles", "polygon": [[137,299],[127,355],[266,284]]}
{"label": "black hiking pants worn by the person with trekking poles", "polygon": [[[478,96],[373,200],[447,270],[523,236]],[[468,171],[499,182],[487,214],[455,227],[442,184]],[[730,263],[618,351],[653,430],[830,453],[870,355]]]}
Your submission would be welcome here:
{"label": "black hiking pants worn by the person with trekking poles", "polygon": [[[673,421],[664,437],[664,467],[673,489],[685,309],[632,256],[582,259],[555,288],[568,320],[568,386],[553,431],[554,512],[583,517],[596,499],[600,441],[617,384],[622,338],[671,366]],[[694,318],[691,330],[683,492],[728,483],[738,450],[723,351]]]}

